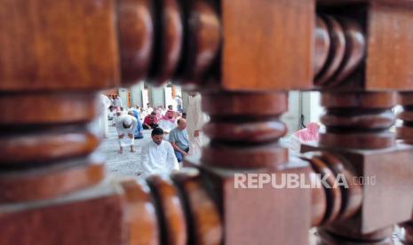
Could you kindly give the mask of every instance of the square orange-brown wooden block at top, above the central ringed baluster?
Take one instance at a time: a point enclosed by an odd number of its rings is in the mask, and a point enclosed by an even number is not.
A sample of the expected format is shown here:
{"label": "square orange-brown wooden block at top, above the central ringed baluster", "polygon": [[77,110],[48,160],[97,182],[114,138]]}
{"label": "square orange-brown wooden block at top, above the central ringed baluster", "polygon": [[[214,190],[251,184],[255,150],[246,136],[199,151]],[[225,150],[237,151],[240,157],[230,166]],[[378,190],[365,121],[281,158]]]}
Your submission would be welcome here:
{"label": "square orange-brown wooden block at top, above the central ringed baluster", "polygon": [[264,91],[312,87],[314,1],[224,0],[221,4],[223,88]]}

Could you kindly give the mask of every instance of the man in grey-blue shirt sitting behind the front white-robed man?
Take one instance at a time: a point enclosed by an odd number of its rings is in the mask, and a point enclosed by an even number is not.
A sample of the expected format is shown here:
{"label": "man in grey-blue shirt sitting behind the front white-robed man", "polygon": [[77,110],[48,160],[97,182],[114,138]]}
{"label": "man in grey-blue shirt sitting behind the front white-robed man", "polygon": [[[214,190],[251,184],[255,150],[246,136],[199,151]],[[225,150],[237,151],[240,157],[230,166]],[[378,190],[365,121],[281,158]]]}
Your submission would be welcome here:
{"label": "man in grey-blue shirt sitting behind the front white-robed man", "polygon": [[184,156],[186,156],[189,151],[187,120],[180,118],[177,123],[178,127],[170,132],[170,142],[175,150],[178,162],[182,162]]}

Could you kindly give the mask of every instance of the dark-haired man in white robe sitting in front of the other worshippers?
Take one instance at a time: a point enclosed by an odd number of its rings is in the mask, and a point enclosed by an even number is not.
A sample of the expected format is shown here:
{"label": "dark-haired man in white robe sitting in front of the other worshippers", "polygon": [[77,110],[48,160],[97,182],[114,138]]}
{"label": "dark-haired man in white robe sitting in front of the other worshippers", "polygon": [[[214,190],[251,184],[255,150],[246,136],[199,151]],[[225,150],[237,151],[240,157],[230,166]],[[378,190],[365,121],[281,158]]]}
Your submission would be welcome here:
{"label": "dark-haired man in white robe sitting in front of the other worshippers", "polygon": [[144,176],[170,174],[172,170],[179,170],[171,144],[163,140],[163,130],[155,128],[151,136],[152,140],[142,147],[141,160]]}

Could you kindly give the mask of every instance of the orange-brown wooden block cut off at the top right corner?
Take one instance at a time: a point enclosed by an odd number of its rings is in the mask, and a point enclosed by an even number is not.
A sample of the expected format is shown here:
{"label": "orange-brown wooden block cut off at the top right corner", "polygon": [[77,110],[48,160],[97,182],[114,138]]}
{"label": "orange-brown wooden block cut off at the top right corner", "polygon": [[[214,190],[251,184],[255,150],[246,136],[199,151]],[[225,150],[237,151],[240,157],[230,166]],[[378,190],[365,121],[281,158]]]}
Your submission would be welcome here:
{"label": "orange-brown wooden block cut off at the top right corner", "polygon": [[370,4],[366,90],[413,90],[411,10],[404,5]]}

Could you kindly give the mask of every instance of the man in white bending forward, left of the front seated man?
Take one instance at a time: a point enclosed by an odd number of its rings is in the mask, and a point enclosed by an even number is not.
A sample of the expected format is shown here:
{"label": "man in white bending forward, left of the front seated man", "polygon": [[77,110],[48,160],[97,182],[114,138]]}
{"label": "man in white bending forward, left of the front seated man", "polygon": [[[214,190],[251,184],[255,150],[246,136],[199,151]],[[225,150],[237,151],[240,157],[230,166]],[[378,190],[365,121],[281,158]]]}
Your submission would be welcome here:
{"label": "man in white bending forward, left of the front seated man", "polygon": [[135,152],[133,133],[137,127],[138,121],[131,115],[121,115],[117,118],[116,130],[119,137],[119,154],[122,154],[123,147],[127,146],[131,146],[131,153]]}

